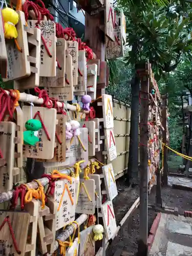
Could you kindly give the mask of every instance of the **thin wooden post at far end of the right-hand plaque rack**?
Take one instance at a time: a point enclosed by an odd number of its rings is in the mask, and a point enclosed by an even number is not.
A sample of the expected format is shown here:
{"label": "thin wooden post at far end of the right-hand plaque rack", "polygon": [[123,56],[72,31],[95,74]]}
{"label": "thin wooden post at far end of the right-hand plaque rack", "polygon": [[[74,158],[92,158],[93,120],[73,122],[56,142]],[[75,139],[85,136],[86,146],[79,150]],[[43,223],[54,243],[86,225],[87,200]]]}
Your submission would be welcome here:
{"label": "thin wooden post at far end of the right-hand plaque rack", "polygon": [[[164,128],[163,131],[163,143],[167,144],[167,125],[166,125],[166,112],[167,112],[167,95],[162,96],[163,110],[162,110],[162,125]],[[167,147],[163,148],[163,184],[167,186],[168,180],[168,164],[167,164]]]}

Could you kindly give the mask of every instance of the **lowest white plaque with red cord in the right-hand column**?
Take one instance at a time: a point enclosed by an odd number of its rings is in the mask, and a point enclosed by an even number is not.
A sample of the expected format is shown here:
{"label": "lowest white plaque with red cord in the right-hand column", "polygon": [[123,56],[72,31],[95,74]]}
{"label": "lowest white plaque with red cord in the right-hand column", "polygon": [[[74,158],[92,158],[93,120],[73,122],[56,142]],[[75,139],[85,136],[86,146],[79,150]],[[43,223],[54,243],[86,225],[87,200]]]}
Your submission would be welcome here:
{"label": "lowest white plaque with red cord in the right-hand column", "polygon": [[103,205],[101,205],[101,212],[103,216],[103,225],[106,233],[106,240],[110,240],[117,230],[112,201],[106,201]]}

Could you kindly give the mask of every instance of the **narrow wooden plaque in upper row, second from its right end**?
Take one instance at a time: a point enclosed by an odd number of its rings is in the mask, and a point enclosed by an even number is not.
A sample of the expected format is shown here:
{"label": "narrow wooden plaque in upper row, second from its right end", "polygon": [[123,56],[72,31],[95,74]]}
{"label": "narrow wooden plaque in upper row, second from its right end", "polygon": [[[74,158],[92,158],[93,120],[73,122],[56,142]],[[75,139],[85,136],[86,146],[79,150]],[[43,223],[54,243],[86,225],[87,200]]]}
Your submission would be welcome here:
{"label": "narrow wooden plaque in upper row, second from its right end", "polygon": [[78,84],[74,87],[75,95],[87,94],[87,61],[86,52],[78,51]]}

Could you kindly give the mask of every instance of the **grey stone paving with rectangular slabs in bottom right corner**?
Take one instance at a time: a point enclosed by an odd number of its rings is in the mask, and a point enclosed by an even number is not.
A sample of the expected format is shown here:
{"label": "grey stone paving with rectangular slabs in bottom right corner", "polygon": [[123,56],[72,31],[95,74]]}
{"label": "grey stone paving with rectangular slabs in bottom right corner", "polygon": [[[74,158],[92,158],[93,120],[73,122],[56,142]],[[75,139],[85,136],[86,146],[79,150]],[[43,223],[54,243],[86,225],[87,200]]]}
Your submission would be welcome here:
{"label": "grey stone paving with rectangular slabs in bottom right corner", "polygon": [[150,256],[192,256],[192,218],[161,214]]}

